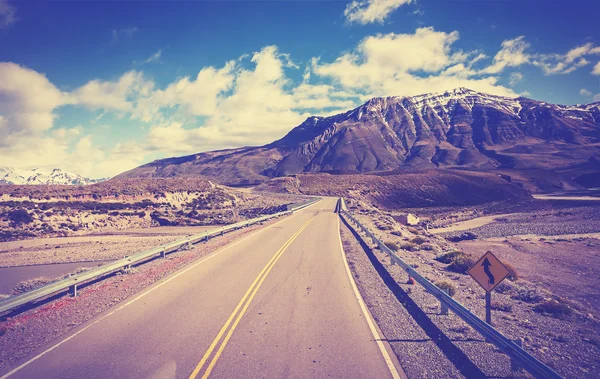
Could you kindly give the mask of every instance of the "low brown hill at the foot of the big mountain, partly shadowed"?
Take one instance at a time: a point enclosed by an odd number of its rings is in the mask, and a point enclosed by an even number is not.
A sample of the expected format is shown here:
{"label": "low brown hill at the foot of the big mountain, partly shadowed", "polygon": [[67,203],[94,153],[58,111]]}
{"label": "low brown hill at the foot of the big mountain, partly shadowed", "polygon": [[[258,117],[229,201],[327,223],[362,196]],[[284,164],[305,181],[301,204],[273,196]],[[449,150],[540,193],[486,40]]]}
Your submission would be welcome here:
{"label": "low brown hill at the foot of the big mountain, partly shadowed", "polygon": [[496,174],[444,169],[386,175],[300,174],[272,179],[256,190],[351,197],[386,209],[530,198],[526,190]]}

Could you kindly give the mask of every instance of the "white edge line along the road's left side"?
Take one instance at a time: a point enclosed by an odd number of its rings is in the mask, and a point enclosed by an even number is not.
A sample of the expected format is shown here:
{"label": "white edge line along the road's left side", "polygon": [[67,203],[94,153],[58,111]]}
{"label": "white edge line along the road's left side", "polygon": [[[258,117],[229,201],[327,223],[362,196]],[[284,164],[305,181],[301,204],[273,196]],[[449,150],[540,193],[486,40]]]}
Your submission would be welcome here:
{"label": "white edge line along the road's left side", "polygon": [[[322,200],[320,200],[320,201],[322,201]],[[308,208],[312,207],[313,205],[316,205],[316,204],[318,204],[320,201],[318,201],[318,202],[316,202],[316,203],[314,203],[314,204],[312,204],[312,205],[310,205],[310,206],[308,206],[308,207],[306,207],[306,208],[304,208],[304,209],[301,209],[301,211],[303,211],[303,210],[306,210],[306,209],[308,209]],[[94,326],[95,324],[99,323],[100,321],[104,320],[105,318],[107,318],[107,317],[109,317],[109,316],[113,315],[114,313],[116,313],[116,312],[120,311],[121,309],[123,309],[123,308],[127,307],[128,305],[130,305],[130,304],[134,303],[135,301],[137,301],[137,300],[141,299],[142,297],[144,297],[144,296],[148,295],[150,292],[152,292],[152,291],[156,290],[157,288],[160,288],[160,287],[162,287],[163,285],[165,285],[165,284],[169,283],[171,280],[173,280],[173,279],[175,279],[175,278],[177,278],[177,277],[179,277],[179,276],[181,276],[181,275],[185,274],[186,272],[190,271],[190,270],[191,270],[191,269],[193,269],[194,267],[196,267],[196,266],[198,266],[198,265],[200,265],[200,264],[202,264],[202,263],[204,263],[204,262],[208,261],[209,259],[212,259],[212,258],[216,257],[217,255],[219,255],[219,254],[221,254],[221,253],[223,253],[223,252],[225,252],[225,251],[229,250],[230,248],[234,247],[235,245],[237,245],[237,244],[239,244],[239,243],[242,243],[242,242],[246,241],[247,239],[250,239],[250,238],[252,238],[252,237],[256,236],[257,234],[259,234],[259,233],[262,233],[262,232],[264,232],[265,230],[268,230],[268,229],[272,228],[273,226],[275,226],[275,225],[277,225],[277,224],[279,224],[279,223],[282,223],[282,222],[284,222],[284,221],[286,221],[286,220],[289,220],[289,219],[288,219],[288,218],[284,218],[283,220],[279,220],[279,221],[277,221],[276,223],[274,223],[274,224],[271,224],[271,225],[267,226],[266,228],[262,228],[262,229],[258,230],[256,233],[252,233],[251,235],[249,235],[249,236],[247,236],[247,237],[245,237],[245,238],[242,238],[242,239],[241,239],[241,240],[239,240],[239,241],[235,241],[234,243],[232,243],[232,244],[229,244],[229,245],[227,245],[227,246],[225,246],[225,247],[221,248],[220,250],[217,250],[217,251],[215,251],[215,252],[214,252],[214,253],[212,253],[211,255],[209,255],[209,256],[207,256],[207,257],[204,257],[202,260],[200,260],[200,261],[198,261],[198,262],[196,262],[196,263],[193,263],[191,266],[188,266],[187,268],[183,269],[182,271],[180,271],[180,272],[178,272],[178,273],[176,272],[175,274],[173,274],[173,276],[171,276],[171,277],[168,277],[168,278],[167,278],[167,279],[165,279],[163,282],[161,282],[161,283],[159,283],[159,284],[155,285],[154,287],[152,287],[152,288],[148,289],[146,292],[142,293],[141,295],[139,295],[139,296],[137,296],[137,297],[133,298],[132,300],[128,301],[127,303],[125,303],[125,304],[121,305],[120,307],[118,307],[118,308],[116,308],[116,309],[112,310],[111,312],[109,312],[109,313],[105,314],[104,316],[100,317],[99,319],[97,319],[96,321],[92,322],[92,323],[91,323],[91,324],[89,324],[88,326],[84,327],[84,328],[83,328],[83,329],[81,329],[80,331],[78,331],[78,332],[76,332],[76,333],[72,334],[71,336],[69,336],[69,337],[65,338],[64,340],[62,340],[62,341],[58,342],[56,345],[54,345],[54,346],[52,346],[52,347],[48,348],[47,350],[44,350],[44,351],[42,351],[41,353],[39,353],[39,354],[38,354],[38,355],[36,355],[35,357],[31,358],[31,359],[30,359],[30,360],[28,360],[27,362],[23,363],[22,365],[20,365],[20,366],[18,366],[18,367],[15,367],[15,368],[14,368],[14,369],[12,369],[11,371],[9,371],[9,372],[7,372],[6,374],[4,374],[4,375],[0,376],[0,379],[7,379],[9,376],[11,376],[11,375],[15,374],[16,372],[20,371],[21,369],[23,369],[24,367],[28,366],[29,364],[31,364],[31,363],[33,363],[33,362],[37,361],[38,359],[40,359],[41,357],[43,357],[43,356],[44,356],[44,355],[46,355],[47,353],[49,353],[49,352],[51,352],[52,350],[56,349],[57,347],[59,347],[60,345],[64,344],[65,342],[67,342],[67,341],[69,341],[69,340],[73,339],[75,336],[77,336],[77,335],[79,335],[79,334],[83,333],[84,331],[86,331],[87,329],[91,328],[92,326]]]}

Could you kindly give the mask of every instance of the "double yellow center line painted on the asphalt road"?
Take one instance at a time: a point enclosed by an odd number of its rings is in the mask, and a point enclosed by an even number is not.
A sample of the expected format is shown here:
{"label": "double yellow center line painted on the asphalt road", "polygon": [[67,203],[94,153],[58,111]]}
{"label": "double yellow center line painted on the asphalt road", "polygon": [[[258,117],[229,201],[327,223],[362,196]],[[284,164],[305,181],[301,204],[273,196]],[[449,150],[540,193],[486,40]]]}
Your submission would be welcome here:
{"label": "double yellow center line painted on the asphalt road", "polygon": [[[254,282],[252,283],[250,288],[248,288],[248,291],[246,291],[246,293],[244,294],[244,297],[242,297],[242,300],[240,300],[237,307],[235,307],[235,309],[233,310],[233,313],[231,313],[231,316],[229,316],[229,318],[227,319],[227,322],[225,322],[225,325],[223,325],[223,327],[221,328],[221,330],[219,331],[219,333],[217,334],[217,336],[215,337],[213,342],[210,344],[210,347],[208,348],[208,350],[206,351],[206,353],[200,360],[200,363],[198,363],[198,365],[196,366],[194,371],[192,371],[192,373],[190,374],[189,379],[195,379],[198,377],[198,374],[200,374],[200,372],[202,371],[202,369],[204,368],[206,363],[209,361],[209,358],[211,357],[211,355],[213,355],[213,352],[215,351],[217,346],[219,346],[217,349],[217,352],[214,354],[214,356],[210,360],[210,363],[206,367],[206,370],[204,371],[202,378],[205,379],[210,376],[210,373],[212,372],[215,365],[217,364],[217,361],[219,360],[219,357],[223,353],[223,350],[225,349],[227,342],[229,342],[229,340],[231,339],[233,332],[235,331],[238,324],[240,323],[240,320],[246,313],[246,310],[250,306],[250,303],[252,302],[252,299],[258,292],[258,289],[260,288],[262,283],[267,278],[267,275],[269,275],[269,272],[271,271],[271,269],[273,269],[273,267],[275,266],[275,264],[277,263],[279,258],[281,258],[285,249],[287,249],[292,244],[292,242],[294,242],[294,240],[300,235],[300,233],[302,233],[302,231],[304,229],[306,229],[308,224],[310,224],[311,221],[315,217],[316,217],[316,215],[313,216],[310,220],[308,220],[304,225],[302,225],[302,227],[289,240],[287,240],[287,242],[285,244],[283,244],[283,246],[277,251],[277,253],[275,253],[275,255],[267,263],[267,265],[262,269],[260,274],[258,274],[256,279],[254,279]],[[234,319],[235,319],[235,321],[234,321]],[[225,333],[227,333],[227,334],[225,335]],[[225,338],[223,338],[223,335],[225,335]]]}

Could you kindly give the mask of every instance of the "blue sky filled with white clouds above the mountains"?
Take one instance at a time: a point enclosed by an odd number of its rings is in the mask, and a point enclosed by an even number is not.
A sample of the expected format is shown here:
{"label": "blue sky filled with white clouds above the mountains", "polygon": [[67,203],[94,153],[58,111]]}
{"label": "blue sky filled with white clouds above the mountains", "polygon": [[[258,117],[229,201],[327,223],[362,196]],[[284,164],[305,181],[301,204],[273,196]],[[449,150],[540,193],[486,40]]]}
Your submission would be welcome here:
{"label": "blue sky filled with white clouds above the mountains", "polygon": [[458,86],[600,101],[599,13],[592,0],[0,0],[0,165],[111,176]]}

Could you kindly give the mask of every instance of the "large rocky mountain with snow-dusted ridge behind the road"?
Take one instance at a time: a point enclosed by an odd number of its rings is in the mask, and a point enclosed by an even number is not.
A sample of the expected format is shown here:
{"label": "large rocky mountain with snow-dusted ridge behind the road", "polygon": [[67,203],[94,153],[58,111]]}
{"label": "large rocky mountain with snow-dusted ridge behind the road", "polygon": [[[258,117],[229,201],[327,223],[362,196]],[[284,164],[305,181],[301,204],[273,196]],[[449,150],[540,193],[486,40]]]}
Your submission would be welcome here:
{"label": "large rocky mountain with snow-dusted ridge behind the road", "polygon": [[306,172],[553,170],[598,156],[600,103],[562,106],[458,88],[374,98],[310,117],[269,145],[158,160],[120,176],[203,175],[239,185]]}

